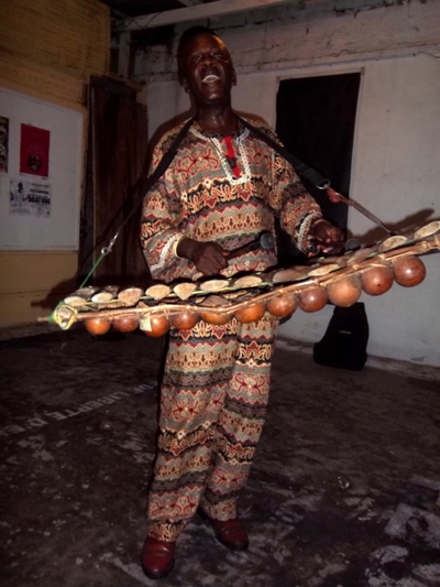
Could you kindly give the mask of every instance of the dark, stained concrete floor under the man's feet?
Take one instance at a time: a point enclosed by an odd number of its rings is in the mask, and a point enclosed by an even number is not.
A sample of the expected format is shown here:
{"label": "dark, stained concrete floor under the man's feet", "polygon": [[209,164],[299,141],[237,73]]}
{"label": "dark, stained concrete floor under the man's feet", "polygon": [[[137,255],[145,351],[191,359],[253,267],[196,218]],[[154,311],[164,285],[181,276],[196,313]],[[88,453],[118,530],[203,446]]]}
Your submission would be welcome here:
{"label": "dark, stained concrete floor under the man's feet", "polygon": [[32,335],[0,341],[2,587],[440,585],[438,371],[344,371],[278,345],[241,499],[250,550],[195,519],[157,583],[140,551],[161,340]]}

